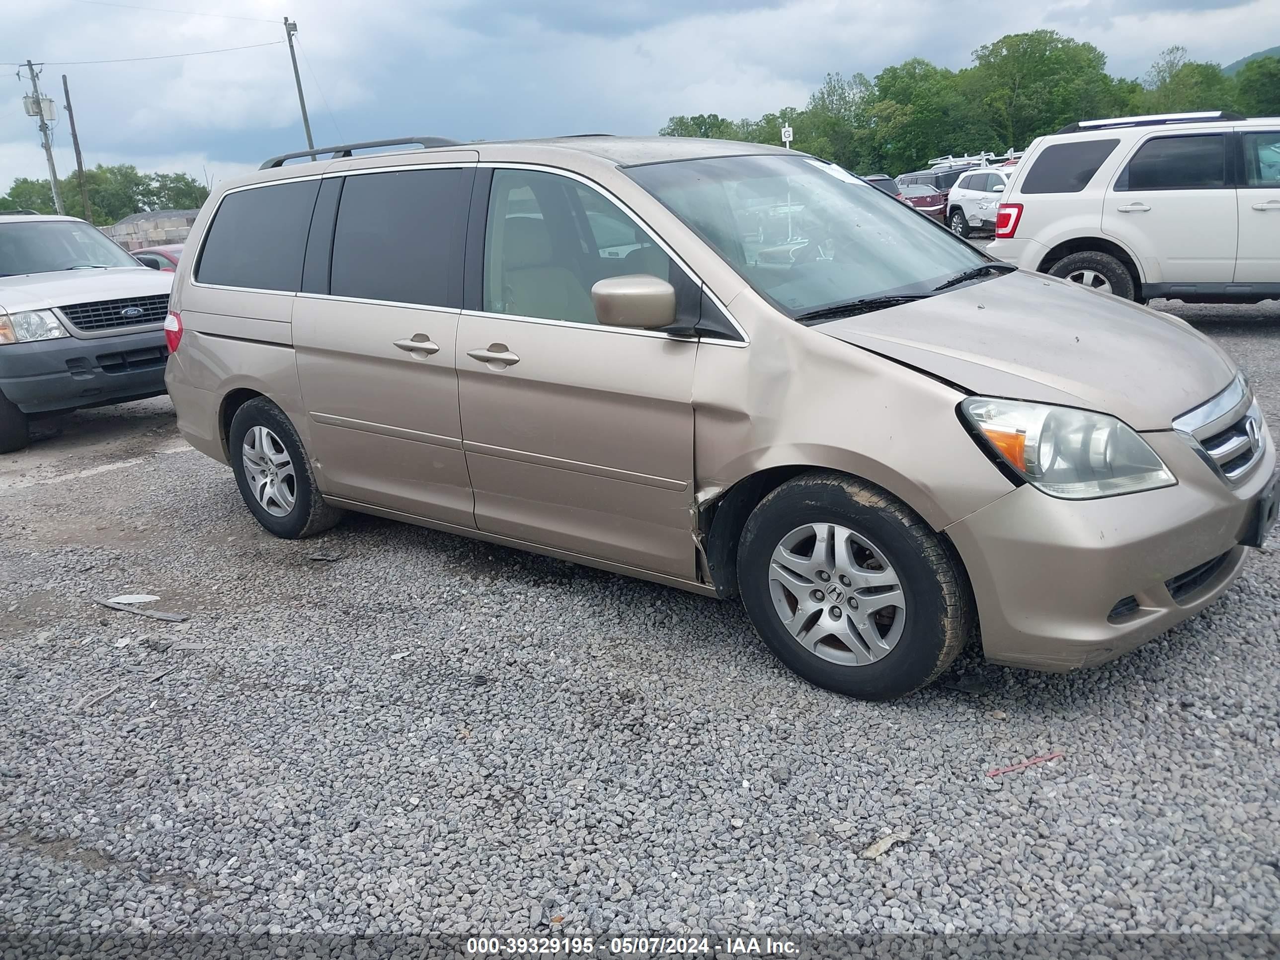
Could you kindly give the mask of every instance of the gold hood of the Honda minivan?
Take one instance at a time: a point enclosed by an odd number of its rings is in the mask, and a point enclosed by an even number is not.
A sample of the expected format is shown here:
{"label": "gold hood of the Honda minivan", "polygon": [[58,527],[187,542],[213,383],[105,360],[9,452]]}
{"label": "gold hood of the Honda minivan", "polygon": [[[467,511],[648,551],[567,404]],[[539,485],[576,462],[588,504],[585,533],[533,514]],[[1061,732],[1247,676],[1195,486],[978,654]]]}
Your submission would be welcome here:
{"label": "gold hood of the Honda minivan", "polygon": [[975,394],[1096,410],[1134,430],[1169,430],[1235,376],[1178,317],[1021,270],[813,329]]}

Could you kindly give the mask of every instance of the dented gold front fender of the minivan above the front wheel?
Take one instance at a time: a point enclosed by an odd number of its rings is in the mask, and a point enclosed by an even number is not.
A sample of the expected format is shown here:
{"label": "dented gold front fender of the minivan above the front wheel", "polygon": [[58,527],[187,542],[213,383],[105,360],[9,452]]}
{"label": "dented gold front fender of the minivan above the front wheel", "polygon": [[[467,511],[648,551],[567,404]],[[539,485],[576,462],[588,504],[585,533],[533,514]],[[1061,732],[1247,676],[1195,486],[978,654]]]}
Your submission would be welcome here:
{"label": "dented gold front fender of the minivan above the front wheel", "polygon": [[959,390],[796,324],[753,291],[730,310],[751,342],[698,352],[699,503],[769,467],[827,467],[883,486],[941,530],[1012,489],[961,426]]}

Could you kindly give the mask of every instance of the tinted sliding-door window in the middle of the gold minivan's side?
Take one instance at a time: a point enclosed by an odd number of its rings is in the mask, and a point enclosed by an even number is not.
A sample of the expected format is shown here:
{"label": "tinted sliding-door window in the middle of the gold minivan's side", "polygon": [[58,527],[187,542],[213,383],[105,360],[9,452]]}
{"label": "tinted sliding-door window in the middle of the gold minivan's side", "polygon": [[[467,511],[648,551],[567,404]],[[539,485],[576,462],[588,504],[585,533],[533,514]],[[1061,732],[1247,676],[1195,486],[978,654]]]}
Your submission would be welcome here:
{"label": "tinted sliding-door window in the middle of the gold minivan's side", "polygon": [[335,297],[461,307],[474,169],[347,177],[333,234]]}

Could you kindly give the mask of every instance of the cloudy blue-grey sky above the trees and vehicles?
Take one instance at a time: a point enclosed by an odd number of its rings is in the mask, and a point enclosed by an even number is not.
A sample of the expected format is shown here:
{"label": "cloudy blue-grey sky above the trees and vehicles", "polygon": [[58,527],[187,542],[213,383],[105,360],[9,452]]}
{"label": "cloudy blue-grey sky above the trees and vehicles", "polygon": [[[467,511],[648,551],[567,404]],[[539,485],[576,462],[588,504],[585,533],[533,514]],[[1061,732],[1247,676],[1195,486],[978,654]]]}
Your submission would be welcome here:
{"label": "cloudy blue-grey sky above the trees and vehicles", "polygon": [[28,58],[47,63],[59,102],[61,175],[74,169],[63,73],[90,165],[216,182],[305,147],[285,14],[317,146],[655,133],[671,114],[803,106],[827,72],[874,76],[909,56],[960,68],[1037,27],[1096,44],[1130,77],[1172,44],[1224,64],[1280,44],[1276,0],[0,0],[0,192],[46,175],[12,65]]}

